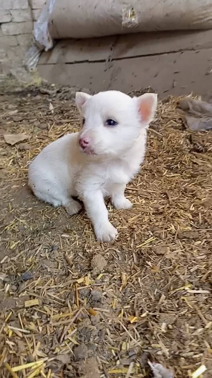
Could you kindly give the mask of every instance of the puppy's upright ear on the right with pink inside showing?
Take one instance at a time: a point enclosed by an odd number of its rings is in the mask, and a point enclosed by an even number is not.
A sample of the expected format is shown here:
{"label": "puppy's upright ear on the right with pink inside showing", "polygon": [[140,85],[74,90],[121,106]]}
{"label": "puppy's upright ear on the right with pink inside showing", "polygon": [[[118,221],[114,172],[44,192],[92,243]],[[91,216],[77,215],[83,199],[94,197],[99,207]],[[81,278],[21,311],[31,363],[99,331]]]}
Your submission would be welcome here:
{"label": "puppy's upright ear on the right with pink inside showing", "polygon": [[143,126],[147,126],[154,119],[158,95],[156,93],[144,93],[144,95],[137,97],[136,101],[140,122]]}

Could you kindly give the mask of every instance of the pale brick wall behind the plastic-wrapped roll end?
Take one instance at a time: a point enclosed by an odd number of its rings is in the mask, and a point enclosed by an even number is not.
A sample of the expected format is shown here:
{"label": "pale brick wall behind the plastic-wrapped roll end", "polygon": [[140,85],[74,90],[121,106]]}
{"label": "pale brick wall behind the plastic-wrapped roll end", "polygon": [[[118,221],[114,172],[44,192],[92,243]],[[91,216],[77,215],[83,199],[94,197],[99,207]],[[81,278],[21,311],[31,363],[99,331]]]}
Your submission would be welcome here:
{"label": "pale brick wall behind the plastic-wrapped roll end", "polygon": [[0,0],[0,78],[21,67],[45,0]]}

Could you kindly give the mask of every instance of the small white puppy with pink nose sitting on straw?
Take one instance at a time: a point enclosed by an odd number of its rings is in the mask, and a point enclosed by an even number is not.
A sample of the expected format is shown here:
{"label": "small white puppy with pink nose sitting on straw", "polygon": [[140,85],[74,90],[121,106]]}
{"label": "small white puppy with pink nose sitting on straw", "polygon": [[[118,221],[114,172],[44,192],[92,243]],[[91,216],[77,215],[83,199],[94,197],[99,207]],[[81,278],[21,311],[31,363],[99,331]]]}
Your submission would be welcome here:
{"label": "small white puppy with pink nose sitting on straw", "polygon": [[109,242],[117,230],[108,220],[105,197],[116,209],[129,209],[126,184],[143,162],[146,130],[154,118],[157,95],[131,98],[119,91],[90,96],[76,93],[82,117],[78,133],[46,146],[29,167],[29,187],[43,201],[64,206],[69,215],[81,209],[80,198],[97,239]]}

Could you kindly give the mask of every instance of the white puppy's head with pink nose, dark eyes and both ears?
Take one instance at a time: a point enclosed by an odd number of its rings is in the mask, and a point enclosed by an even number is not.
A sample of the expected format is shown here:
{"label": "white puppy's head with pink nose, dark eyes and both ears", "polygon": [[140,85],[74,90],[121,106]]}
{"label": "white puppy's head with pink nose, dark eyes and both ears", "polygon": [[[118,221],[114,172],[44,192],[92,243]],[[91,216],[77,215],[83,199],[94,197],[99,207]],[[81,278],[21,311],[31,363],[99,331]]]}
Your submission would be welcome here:
{"label": "white puppy's head with pink nose, dark eyes and both ears", "polygon": [[121,156],[148,127],[157,108],[157,95],[145,93],[131,98],[119,91],[91,96],[77,92],[75,98],[82,117],[79,144],[91,155]]}

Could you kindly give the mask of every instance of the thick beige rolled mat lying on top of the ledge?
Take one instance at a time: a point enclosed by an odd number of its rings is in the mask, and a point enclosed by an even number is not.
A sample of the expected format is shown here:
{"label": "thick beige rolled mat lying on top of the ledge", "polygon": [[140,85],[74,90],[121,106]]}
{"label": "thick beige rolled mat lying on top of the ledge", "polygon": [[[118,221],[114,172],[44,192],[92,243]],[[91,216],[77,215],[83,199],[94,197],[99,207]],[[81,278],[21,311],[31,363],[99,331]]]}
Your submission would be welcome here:
{"label": "thick beige rolled mat lying on top of the ledge", "polygon": [[55,0],[48,27],[53,39],[210,29],[212,0]]}

